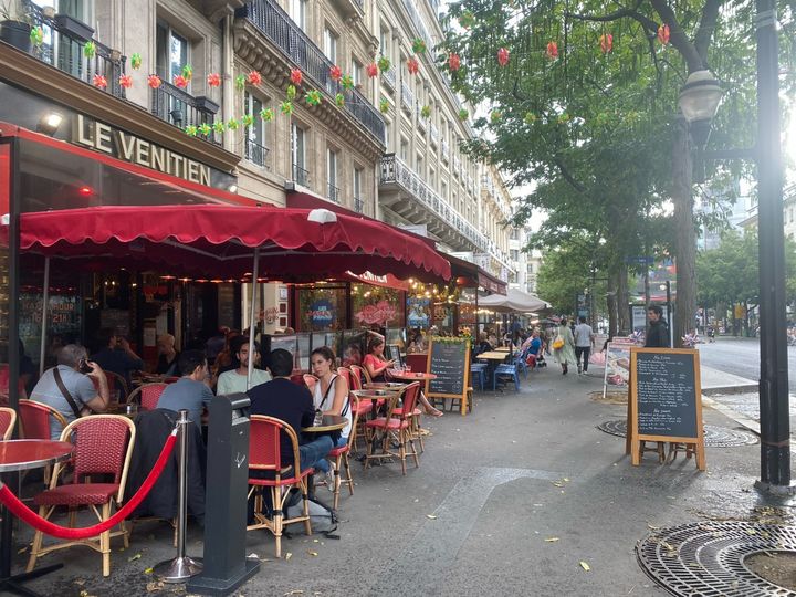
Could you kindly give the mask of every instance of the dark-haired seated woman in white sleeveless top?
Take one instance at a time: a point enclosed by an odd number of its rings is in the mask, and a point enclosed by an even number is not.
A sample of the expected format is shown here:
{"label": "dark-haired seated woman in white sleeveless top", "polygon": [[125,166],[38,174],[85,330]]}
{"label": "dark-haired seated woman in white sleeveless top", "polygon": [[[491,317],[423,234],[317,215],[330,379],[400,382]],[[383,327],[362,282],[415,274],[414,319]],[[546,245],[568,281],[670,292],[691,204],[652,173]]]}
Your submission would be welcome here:
{"label": "dark-haired seated woman in white sleeveless top", "polygon": [[[310,355],[310,364],[313,374],[317,377],[317,383],[312,388],[315,409],[324,415],[341,415],[348,419],[348,425],[341,431],[341,437],[335,442],[335,448],[341,448],[348,442],[352,427],[348,383],[335,371],[335,355],[328,346],[315,348]],[[334,491],[334,464],[321,459],[315,468],[326,474],[326,486],[329,491]]]}

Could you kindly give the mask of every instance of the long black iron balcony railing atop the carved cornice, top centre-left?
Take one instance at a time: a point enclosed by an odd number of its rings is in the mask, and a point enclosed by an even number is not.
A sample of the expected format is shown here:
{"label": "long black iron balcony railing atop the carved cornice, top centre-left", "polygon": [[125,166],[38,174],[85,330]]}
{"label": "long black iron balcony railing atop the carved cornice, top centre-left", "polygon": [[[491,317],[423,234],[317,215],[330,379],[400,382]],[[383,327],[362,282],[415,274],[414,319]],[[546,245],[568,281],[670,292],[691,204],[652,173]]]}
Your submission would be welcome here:
{"label": "long black iron balcony railing atop the carved cornice, top centre-left", "polygon": [[329,95],[325,104],[334,106],[334,96],[342,93],[345,107],[334,109],[347,113],[381,145],[385,144],[385,123],[379,111],[356,88],[346,91],[339,82],[332,81],[329,70],[334,64],[274,0],[247,2],[245,7],[235,11],[235,17],[251,23],[290,63],[298,66],[318,90],[325,90]]}

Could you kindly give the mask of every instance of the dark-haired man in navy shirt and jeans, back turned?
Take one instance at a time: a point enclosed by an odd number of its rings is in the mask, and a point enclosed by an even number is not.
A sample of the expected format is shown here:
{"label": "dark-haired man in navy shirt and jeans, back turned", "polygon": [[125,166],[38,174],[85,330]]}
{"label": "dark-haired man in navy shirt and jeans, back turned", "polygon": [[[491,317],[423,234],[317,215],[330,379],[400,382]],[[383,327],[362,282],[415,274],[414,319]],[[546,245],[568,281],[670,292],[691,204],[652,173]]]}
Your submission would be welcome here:
{"label": "dark-haired man in navy shirt and jeans, back turned", "polygon": [[[293,373],[293,355],[283,348],[271,352],[271,375],[273,379],[249,390],[251,415],[275,417],[290,425],[301,438],[302,427],[312,427],[315,407],[312,395],[304,386],[290,380]],[[300,440],[301,441],[301,440]],[[282,465],[293,464],[293,448],[284,433],[280,438]],[[313,467],[326,457],[333,448],[332,438],[321,436],[314,441],[302,443],[298,448],[302,470]],[[251,474],[258,471],[251,471]]]}

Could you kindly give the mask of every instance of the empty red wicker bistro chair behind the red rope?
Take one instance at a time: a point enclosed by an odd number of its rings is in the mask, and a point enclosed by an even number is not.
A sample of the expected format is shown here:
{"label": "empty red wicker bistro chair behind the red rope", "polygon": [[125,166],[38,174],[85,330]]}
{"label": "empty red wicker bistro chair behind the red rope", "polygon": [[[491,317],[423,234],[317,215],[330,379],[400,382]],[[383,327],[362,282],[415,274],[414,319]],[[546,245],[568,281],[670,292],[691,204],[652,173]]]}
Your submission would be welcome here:
{"label": "empty red wicker bistro chair behind the red rope", "polygon": [[[126,417],[118,415],[93,415],[72,421],[61,433],[61,441],[72,441],[75,446],[73,467],[74,480],[63,485],[57,484],[59,470],[56,464],[50,481],[50,489],[33,499],[39,506],[39,515],[49,519],[57,506],[69,506],[70,526],[74,526],[77,507],[88,506],[100,521],[111,517],[112,506],[118,505],[124,496],[127,470],[129,468],[133,446],[135,444],[135,425]],[[109,483],[88,481],[94,475],[113,475]],[[97,510],[102,506],[102,512]],[[103,576],[111,574],[111,537],[122,535],[127,547],[128,532],[124,522],[119,531],[105,531],[98,540],[88,538],[66,541],[42,546],[43,533],[36,531],[33,538],[28,572],[35,566],[36,559],[55,549],[73,545],[86,545],[100,552],[103,557]]]}

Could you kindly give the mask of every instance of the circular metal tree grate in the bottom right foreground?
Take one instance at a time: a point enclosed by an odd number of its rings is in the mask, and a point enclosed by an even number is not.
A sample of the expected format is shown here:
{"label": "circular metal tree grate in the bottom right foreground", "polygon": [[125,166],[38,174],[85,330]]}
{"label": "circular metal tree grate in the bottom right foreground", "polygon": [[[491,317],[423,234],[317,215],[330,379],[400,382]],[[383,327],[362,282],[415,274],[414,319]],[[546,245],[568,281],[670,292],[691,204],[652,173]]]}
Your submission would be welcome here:
{"label": "circular metal tree grate in the bottom right foreground", "polygon": [[662,528],[636,544],[639,565],[673,595],[796,597],[752,573],[746,556],[796,552],[796,526],[704,522]]}

